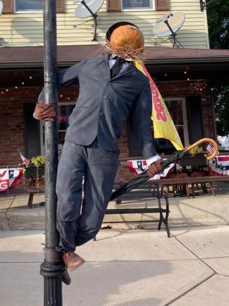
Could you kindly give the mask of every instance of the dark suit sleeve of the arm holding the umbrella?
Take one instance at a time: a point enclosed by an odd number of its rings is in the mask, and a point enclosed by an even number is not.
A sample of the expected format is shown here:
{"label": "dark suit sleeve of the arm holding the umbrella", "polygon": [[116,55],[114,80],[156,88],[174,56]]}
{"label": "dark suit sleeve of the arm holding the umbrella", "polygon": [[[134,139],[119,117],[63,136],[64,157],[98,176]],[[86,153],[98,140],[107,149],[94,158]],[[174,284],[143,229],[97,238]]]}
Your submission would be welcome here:
{"label": "dark suit sleeve of the arm holding the umbrella", "polygon": [[151,87],[146,80],[141,93],[134,103],[131,112],[132,122],[136,130],[136,137],[141,147],[143,157],[149,159],[158,153],[153,147],[153,134],[151,128],[152,94]]}

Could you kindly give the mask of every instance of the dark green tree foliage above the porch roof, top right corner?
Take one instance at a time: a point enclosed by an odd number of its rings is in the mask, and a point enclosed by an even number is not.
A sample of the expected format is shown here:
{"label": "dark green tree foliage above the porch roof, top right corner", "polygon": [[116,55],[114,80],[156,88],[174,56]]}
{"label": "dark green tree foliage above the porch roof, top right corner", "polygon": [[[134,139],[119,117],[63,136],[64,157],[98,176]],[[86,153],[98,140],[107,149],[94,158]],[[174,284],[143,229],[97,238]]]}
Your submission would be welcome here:
{"label": "dark green tree foliage above the porch roof, top right corner", "polygon": [[229,0],[207,0],[210,47],[229,49]]}

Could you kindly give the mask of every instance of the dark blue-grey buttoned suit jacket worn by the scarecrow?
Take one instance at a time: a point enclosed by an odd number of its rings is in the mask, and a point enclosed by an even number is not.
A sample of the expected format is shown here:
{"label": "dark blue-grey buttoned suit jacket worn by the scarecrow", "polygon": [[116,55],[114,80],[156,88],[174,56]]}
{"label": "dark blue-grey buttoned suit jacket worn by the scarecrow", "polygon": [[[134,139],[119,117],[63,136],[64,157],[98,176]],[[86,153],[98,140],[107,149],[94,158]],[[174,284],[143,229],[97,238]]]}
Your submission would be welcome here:
{"label": "dark blue-grey buttoned suit jacket worn by the scarecrow", "polygon": [[[151,130],[152,98],[148,78],[133,63],[110,79],[109,55],[89,57],[59,72],[59,87],[79,84],[74,111],[65,140],[90,145],[95,137],[103,149],[117,151],[118,140],[131,113],[143,156],[157,152]],[[43,99],[41,92],[38,101]]]}

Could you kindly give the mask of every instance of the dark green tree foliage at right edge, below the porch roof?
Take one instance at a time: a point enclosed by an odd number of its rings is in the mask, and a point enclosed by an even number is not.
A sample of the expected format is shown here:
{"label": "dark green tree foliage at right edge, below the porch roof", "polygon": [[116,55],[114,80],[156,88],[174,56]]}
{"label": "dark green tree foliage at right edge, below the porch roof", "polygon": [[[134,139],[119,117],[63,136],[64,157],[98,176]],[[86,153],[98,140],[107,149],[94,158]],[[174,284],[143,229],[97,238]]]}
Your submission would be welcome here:
{"label": "dark green tree foliage at right edge, below the porch roof", "polygon": [[217,133],[226,136],[229,134],[229,86],[216,90],[214,101]]}

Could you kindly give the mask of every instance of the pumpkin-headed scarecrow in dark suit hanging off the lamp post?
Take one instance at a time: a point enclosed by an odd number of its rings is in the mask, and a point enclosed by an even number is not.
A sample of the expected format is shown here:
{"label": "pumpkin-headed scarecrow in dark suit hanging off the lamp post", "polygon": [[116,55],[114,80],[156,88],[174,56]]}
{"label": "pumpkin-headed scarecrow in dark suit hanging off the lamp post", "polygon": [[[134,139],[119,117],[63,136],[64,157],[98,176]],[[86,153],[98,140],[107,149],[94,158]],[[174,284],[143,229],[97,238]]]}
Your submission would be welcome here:
{"label": "pumpkin-headed scarecrow in dark suit hanging off the lamp post", "polygon": [[[118,140],[131,115],[148,176],[163,171],[153,147],[152,96],[148,78],[134,66],[141,59],[143,34],[132,23],[115,23],[106,35],[105,51],[59,72],[58,86],[79,84],[69,117],[57,172],[57,230],[69,271],[83,264],[74,253],[98,233],[119,164]],[[55,112],[40,93],[34,117],[53,121]],[[84,177],[84,199],[82,181]]]}

